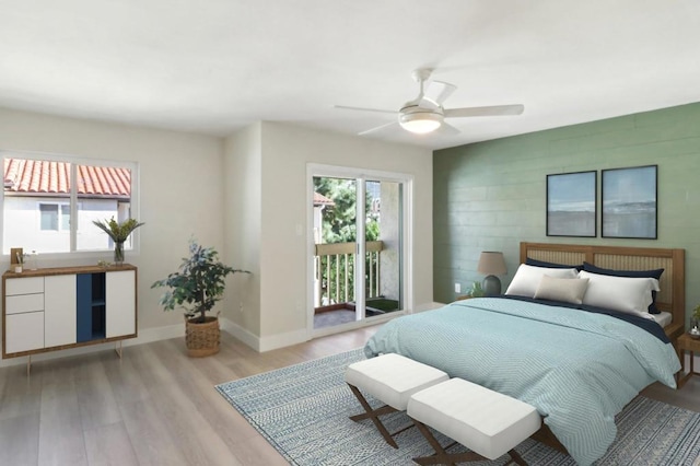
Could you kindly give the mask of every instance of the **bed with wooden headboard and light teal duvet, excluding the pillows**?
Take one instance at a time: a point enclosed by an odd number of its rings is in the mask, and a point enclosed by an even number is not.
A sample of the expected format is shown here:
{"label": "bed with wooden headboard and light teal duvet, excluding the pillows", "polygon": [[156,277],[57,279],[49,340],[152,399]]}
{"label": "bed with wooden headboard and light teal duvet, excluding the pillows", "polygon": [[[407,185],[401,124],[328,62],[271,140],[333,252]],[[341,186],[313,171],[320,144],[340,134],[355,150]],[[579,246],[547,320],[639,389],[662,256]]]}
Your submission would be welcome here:
{"label": "bed with wooden headboard and light teal duvet, excluding the pillows", "polygon": [[[615,440],[615,415],[641,389],[655,381],[675,387],[680,363],[673,342],[685,321],[684,251],[522,243],[521,263],[528,259],[628,271],[663,268],[655,305],[667,322],[662,328],[649,315],[598,306],[585,312],[528,296],[479,298],[396,318],[370,338],[365,354],[396,352],[528,403],[544,418],[537,440],[592,464]],[[608,279],[591,280],[585,293],[599,291],[593,280]]]}

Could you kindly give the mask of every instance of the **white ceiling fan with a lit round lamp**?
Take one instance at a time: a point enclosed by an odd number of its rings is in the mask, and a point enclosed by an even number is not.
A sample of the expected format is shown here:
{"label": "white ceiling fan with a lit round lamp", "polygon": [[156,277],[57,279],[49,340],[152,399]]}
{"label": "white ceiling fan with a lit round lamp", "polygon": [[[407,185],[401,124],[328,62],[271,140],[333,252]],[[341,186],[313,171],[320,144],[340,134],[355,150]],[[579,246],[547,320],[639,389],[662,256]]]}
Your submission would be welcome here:
{"label": "white ceiling fan with a lit round lamp", "polygon": [[413,71],[412,77],[420,85],[418,97],[407,102],[398,110],[384,110],[377,108],[349,107],[336,105],[336,108],[347,110],[377,112],[397,115],[396,121],[387,123],[376,128],[368,129],[360,135],[369,135],[380,129],[399,124],[404,129],[418,135],[432,132],[440,128],[447,132],[459,132],[457,128],[445,123],[445,118],[462,117],[483,117],[483,116],[506,116],[521,115],[525,107],[523,105],[492,105],[487,107],[463,107],[444,108],[443,102],[457,89],[456,85],[442,81],[431,81],[428,89],[425,82],[430,79],[431,69],[422,68]]}

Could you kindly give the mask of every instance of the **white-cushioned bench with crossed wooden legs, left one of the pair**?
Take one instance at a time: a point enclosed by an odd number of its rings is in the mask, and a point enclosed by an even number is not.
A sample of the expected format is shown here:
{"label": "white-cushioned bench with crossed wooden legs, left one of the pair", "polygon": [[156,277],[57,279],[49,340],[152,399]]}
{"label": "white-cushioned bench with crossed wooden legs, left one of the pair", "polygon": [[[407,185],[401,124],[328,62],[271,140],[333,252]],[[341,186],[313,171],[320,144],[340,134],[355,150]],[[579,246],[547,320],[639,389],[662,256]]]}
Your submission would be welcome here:
{"label": "white-cushioned bench with crossed wooden legs, left one of the pair", "polygon": [[[405,411],[411,395],[448,378],[447,374],[439,369],[394,353],[350,364],[346,370],[346,382],[365,411],[351,416],[350,419],[355,422],[371,419],[386,443],[398,448],[394,435],[413,424],[389,433],[378,417],[389,412]],[[360,389],[384,403],[385,406],[372,408]]]}

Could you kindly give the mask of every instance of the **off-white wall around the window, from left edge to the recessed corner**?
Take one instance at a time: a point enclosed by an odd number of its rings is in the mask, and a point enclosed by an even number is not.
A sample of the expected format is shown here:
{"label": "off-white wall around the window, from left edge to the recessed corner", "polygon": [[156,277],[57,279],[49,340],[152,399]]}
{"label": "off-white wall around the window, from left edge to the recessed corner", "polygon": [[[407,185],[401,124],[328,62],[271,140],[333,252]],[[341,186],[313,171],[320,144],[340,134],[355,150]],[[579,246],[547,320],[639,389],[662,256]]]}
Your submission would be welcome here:
{"label": "off-white wall around the window, from left edge to the recessed corner", "polygon": [[[151,283],[164,278],[187,255],[190,235],[223,247],[222,141],[176,131],[113,125],[0,108],[0,149],[63,153],[86,159],[135,161],[140,167],[140,251],[126,253],[139,267],[139,330],[182,324],[179,311],[158,305],[160,290]],[[1,220],[0,220],[1,221]],[[19,245],[21,246],[21,245]],[[42,267],[95,264],[102,256],[75,256]],[[0,268],[9,267],[8,256]]]}

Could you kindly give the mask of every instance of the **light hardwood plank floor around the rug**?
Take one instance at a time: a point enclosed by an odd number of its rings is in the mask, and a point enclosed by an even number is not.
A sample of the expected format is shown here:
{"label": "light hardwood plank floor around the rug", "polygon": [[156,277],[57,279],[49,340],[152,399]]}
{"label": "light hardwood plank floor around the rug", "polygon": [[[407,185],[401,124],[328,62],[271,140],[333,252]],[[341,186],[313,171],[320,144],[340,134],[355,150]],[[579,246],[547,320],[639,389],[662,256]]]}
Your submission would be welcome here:
{"label": "light hardwood plank floor around the rug", "polygon": [[[213,386],[359,348],[376,330],[257,353],[222,333],[190,359],[184,338],[0,369],[0,465],[285,465]],[[700,411],[700,377],[644,395]]]}

